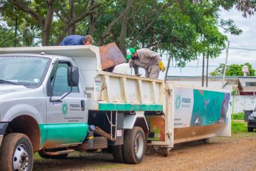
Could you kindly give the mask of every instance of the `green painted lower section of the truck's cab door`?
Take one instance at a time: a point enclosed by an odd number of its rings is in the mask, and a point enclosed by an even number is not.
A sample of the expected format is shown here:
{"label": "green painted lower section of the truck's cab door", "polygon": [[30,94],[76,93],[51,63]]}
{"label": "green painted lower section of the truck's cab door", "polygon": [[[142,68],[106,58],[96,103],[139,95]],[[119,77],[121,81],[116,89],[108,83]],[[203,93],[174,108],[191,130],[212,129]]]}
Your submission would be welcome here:
{"label": "green painted lower section of the truck's cab door", "polygon": [[84,141],[87,123],[51,123],[39,124],[41,131],[41,147],[46,144],[74,144]]}

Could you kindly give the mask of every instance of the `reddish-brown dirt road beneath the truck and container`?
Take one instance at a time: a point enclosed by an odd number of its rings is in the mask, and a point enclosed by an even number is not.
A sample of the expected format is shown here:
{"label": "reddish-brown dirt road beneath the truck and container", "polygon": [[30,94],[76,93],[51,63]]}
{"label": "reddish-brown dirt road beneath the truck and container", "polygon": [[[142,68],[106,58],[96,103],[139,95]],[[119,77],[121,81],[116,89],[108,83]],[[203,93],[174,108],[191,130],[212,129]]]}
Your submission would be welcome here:
{"label": "reddish-brown dirt road beneath the truck and container", "polygon": [[140,165],[114,163],[111,154],[74,153],[67,160],[36,158],[34,170],[255,170],[256,133],[212,138],[210,143],[181,147],[170,156],[145,156]]}

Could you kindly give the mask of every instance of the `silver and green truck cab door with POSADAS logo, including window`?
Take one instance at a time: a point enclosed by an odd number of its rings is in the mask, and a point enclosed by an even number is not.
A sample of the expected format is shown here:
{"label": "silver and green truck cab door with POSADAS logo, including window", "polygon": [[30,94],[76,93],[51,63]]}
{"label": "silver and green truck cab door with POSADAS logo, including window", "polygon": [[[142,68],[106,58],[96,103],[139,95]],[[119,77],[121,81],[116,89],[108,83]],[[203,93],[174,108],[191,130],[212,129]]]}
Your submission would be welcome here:
{"label": "silver and green truck cab door with POSADAS logo, including window", "polygon": [[54,64],[51,76],[47,83],[47,94],[52,94],[47,100],[47,124],[45,124],[45,137],[42,137],[43,147],[58,147],[61,144],[79,144],[83,142],[88,130],[88,109],[83,85],[79,78],[79,85],[68,86],[69,61]]}

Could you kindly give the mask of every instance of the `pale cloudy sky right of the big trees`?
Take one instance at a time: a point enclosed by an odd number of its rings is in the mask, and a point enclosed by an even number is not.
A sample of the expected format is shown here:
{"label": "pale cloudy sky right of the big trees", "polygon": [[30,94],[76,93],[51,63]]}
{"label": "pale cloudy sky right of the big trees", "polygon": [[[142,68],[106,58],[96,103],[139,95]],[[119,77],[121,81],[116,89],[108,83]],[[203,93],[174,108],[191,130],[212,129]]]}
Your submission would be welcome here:
{"label": "pale cloudy sky right of the big trees", "polygon": [[[220,12],[221,19],[232,19],[239,29],[243,30],[243,33],[239,36],[233,36],[227,34],[230,41],[230,49],[228,50],[227,64],[244,64],[250,63],[254,70],[256,70],[256,14],[251,17],[244,18],[242,13],[236,9],[230,11],[222,10]],[[237,50],[233,48],[250,48],[255,50]],[[214,71],[220,63],[225,63],[226,50],[222,50],[222,53],[216,59],[209,59],[209,73]],[[167,66],[167,61],[163,61]],[[172,64],[172,62],[171,62]],[[173,61],[175,64],[175,61]],[[196,66],[198,67],[196,68]],[[206,60],[205,60],[205,73],[206,73]],[[171,66],[168,71],[170,76],[199,76],[202,75],[202,57],[199,60],[191,61],[185,68],[177,68]],[[164,78],[164,73],[160,73],[160,79]]]}

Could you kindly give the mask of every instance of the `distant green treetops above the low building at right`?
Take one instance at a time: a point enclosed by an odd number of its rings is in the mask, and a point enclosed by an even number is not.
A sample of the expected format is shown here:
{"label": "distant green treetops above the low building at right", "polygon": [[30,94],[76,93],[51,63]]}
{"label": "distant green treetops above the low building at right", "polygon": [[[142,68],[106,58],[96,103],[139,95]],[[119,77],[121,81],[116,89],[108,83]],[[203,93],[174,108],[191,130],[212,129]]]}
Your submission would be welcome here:
{"label": "distant green treetops above the low building at right", "polygon": [[[243,76],[244,73],[242,71],[243,66],[246,65],[249,68],[250,74],[248,76],[255,76],[255,70],[252,69],[252,64],[244,63],[244,64],[230,64],[227,65],[226,76]],[[224,73],[225,64],[221,63],[215,71],[210,73],[211,76],[220,76]]]}

